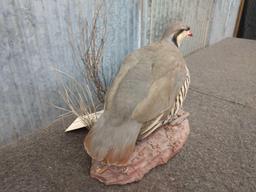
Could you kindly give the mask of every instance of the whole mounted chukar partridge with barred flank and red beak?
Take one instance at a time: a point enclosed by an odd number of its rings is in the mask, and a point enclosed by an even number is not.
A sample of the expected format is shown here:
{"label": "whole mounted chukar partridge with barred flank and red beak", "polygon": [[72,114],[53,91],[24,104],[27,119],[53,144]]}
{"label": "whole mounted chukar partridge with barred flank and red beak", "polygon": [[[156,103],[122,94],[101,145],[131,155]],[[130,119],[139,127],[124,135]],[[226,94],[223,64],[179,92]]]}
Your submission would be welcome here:
{"label": "whole mounted chukar partridge with barred flank and red beak", "polygon": [[138,139],[177,118],[190,82],[178,48],[189,36],[188,26],[174,23],[159,42],[137,49],[124,59],[106,95],[104,113],[84,141],[93,159],[122,166]]}

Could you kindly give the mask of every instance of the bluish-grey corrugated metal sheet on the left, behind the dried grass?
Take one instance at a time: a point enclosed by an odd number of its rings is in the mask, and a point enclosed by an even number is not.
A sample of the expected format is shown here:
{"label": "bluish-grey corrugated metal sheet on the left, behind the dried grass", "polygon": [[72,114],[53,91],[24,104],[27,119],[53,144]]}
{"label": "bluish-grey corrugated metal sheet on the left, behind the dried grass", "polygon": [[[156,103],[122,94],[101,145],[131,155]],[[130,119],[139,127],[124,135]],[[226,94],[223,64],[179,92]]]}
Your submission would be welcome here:
{"label": "bluish-grey corrugated metal sheet on the left, behind the dried grass", "polygon": [[[138,46],[138,3],[108,1],[108,40],[104,66],[118,69]],[[79,35],[78,21],[91,20],[94,1],[0,1],[0,143],[49,125],[60,111],[59,79],[52,68],[73,75],[68,23]]]}

